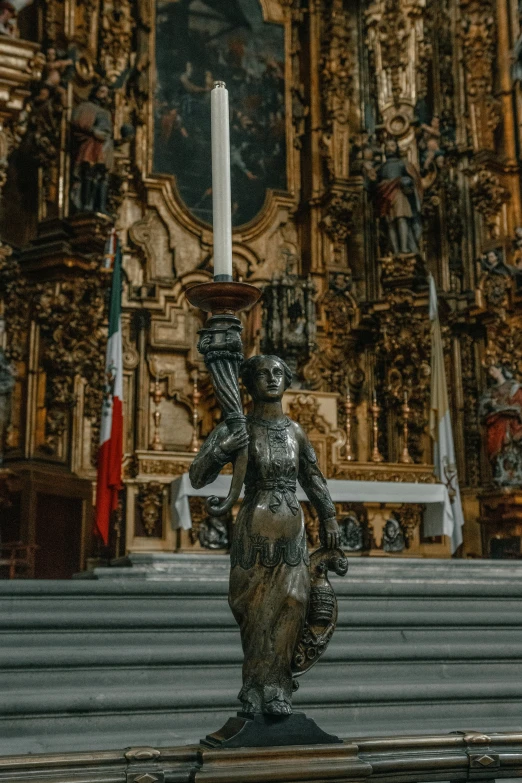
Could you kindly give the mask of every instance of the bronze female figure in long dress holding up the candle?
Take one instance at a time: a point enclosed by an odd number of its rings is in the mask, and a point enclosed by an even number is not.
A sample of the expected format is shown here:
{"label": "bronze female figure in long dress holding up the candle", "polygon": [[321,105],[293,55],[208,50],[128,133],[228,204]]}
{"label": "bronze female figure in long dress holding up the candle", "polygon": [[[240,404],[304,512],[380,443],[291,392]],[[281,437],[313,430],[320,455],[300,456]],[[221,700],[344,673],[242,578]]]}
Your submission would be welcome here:
{"label": "bronze female figure in long dress holding up the candle", "polygon": [[283,414],[281,398],[292,381],[276,356],[244,362],[243,382],[253,414],[238,432],[219,424],[190,469],[194,487],[214,481],[248,444],[245,499],[234,526],[229,604],[244,652],[243,712],[292,712],[292,657],[310,597],[309,555],[299,481],[320,521],[322,545],[339,546],[335,507],[315,452],[301,427]]}

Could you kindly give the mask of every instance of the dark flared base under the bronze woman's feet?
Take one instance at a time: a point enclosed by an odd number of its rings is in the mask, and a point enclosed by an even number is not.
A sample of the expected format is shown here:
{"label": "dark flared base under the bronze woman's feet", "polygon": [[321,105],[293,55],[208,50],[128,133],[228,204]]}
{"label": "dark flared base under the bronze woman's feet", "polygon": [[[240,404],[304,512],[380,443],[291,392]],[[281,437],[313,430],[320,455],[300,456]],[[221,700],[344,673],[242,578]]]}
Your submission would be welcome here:
{"label": "dark flared base under the bronze woman's feet", "polygon": [[225,725],[207,734],[207,748],[270,748],[281,745],[332,745],[342,740],[327,734],[304,712],[292,715],[247,715],[238,712]]}

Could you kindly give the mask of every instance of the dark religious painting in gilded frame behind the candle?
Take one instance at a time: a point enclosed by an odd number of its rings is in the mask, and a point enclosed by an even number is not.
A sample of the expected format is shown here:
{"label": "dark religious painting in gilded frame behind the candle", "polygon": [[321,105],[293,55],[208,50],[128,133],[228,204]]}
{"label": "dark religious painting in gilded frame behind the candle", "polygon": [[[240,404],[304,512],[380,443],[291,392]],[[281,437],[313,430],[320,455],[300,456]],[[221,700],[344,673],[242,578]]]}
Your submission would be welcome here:
{"label": "dark religious painting in gilded frame behind the candle", "polygon": [[173,174],[190,212],[212,223],[210,91],[230,102],[232,222],[286,190],[284,29],[259,0],[159,0],[154,170]]}

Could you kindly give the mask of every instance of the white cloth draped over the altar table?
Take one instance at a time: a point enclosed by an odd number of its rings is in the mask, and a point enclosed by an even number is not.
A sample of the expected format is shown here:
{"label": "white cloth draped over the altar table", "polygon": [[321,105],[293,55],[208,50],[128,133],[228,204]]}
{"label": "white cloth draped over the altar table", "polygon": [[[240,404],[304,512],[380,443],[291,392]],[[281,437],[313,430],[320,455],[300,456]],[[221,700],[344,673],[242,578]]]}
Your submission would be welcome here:
{"label": "white cloth draped over the altar table", "polygon": [[[218,476],[212,484],[202,489],[193,489],[188,473],[175,478],[171,484],[172,526],[190,530],[189,497],[225,498],[230,488],[231,476]],[[415,484],[400,481],[347,481],[328,479],[328,489],[334,502],[353,503],[423,503],[425,536],[451,536],[453,514],[448,490],[444,484]],[[241,493],[243,496],[243,493]],[[307,500],[304,491],[297,485],[297,499]]]}

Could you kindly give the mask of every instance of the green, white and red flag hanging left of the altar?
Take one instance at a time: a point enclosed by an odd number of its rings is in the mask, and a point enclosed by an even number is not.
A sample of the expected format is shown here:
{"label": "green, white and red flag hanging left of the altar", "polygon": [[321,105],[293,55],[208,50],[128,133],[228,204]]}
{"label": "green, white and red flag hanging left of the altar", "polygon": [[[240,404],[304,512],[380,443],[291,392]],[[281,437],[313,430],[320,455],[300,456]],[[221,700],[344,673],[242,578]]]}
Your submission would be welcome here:
{"label": "green, white and red flag hanging left of the altar", "polygon": [[121,342],[121,247],[115,232],[108,240],[106,258],[114,258],[109,312],[109,340],[105,359],[105,390],[103,395],[98,451],[98,483],[96,487],[96,528],[107,546],[111,512],[118,506],[122,489],[123,459],[123,360]]}

